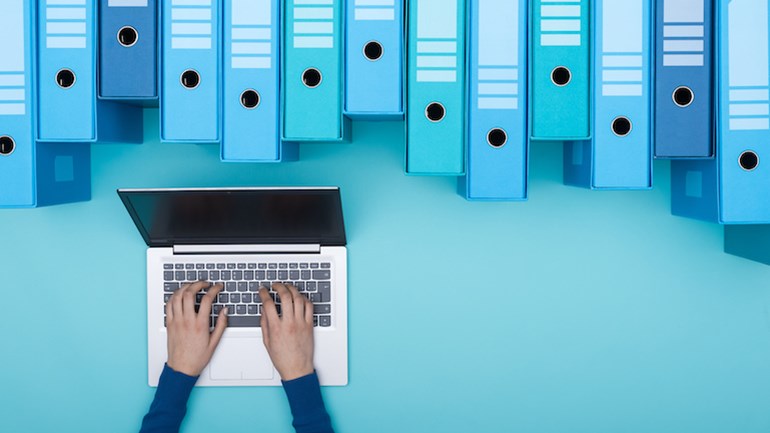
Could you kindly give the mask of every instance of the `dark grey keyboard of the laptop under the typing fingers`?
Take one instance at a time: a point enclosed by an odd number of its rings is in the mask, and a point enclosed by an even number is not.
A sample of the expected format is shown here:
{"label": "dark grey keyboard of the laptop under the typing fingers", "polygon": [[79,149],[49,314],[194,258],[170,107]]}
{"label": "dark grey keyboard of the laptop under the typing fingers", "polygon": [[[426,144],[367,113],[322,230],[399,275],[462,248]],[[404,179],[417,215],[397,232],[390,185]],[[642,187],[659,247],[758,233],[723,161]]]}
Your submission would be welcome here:
{"label": "dark grey keyboard of the laptop under the typing fingers", "polygon": [[[163,264],[163,324],[166,324],[165,303],[175,290],[195,281],[221,283],[224,288],[212,305],[211,326],[219,312],[227,307],[229,327],[258,327],[262,318],[260,287],[270,291],[281,314],[281,298],[272,289],[273,283],[291,284],[300,294],[313,302],[313,325],[331,326],[332,266],[329,262],[286,263],[164,263]],[[208,289],[198,293],[195,309]]]}

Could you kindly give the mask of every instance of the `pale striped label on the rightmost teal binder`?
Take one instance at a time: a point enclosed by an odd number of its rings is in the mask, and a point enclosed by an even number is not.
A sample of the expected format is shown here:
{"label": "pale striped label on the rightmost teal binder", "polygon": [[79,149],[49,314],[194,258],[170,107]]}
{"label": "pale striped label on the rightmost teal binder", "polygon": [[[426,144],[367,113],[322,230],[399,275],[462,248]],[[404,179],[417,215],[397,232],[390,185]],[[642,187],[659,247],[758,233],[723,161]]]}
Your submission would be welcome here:
{"label": "pale striped label on the rightmost teal binder", "polygon": [[542,0],[540,46],[579,47],[583,0]]}

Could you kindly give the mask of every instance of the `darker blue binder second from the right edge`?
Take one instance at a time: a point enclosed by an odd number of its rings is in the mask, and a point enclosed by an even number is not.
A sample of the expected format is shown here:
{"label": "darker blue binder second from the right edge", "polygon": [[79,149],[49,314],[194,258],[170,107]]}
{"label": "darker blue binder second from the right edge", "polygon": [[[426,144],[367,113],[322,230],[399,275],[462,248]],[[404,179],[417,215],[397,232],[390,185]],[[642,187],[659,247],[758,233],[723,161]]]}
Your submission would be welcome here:
{"label": "darker blue binder second from the right edge", "polygon": [[655,157],[713,157],[713,2],[656,5]]}

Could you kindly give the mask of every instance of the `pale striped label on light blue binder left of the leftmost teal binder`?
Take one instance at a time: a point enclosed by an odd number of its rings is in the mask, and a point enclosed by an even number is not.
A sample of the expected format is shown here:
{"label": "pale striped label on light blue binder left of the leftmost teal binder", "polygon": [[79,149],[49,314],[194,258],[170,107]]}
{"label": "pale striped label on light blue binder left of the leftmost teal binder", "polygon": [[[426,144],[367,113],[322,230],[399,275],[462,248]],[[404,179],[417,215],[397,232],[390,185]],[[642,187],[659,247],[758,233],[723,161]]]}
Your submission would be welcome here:
{"label": "pale striped label on light blue binder left of the leftmost teal binder", "polygon": [[232,0],[233,69],[272,68],[270,0]]}

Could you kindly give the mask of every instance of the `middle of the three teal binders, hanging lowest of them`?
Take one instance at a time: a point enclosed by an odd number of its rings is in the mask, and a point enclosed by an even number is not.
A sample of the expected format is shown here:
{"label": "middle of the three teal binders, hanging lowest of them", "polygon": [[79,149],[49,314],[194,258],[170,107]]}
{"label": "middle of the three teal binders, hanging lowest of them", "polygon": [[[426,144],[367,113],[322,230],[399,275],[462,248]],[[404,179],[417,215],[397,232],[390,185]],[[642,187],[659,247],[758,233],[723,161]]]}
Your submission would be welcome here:
{"label": "middle of the three teal binders, hanging lowest of them", "polygon": [[465,2],[409,2],[406,172],[465,171]]}

